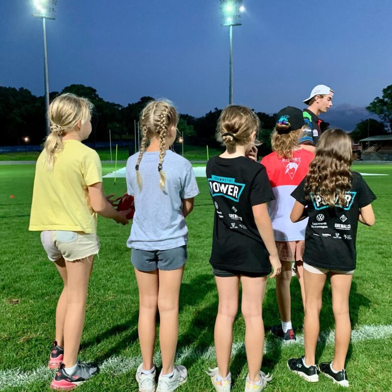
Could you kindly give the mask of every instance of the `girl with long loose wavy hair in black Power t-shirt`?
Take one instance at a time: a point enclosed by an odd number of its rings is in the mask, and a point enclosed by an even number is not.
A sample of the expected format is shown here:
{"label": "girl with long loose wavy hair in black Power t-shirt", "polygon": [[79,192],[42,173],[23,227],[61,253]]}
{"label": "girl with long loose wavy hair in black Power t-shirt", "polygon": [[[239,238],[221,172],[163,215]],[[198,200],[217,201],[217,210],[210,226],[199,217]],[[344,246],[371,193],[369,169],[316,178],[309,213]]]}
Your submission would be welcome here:
{"label": "girl with long loose wavy hair in black Power t-shirt", "polygon": [[[303,255],[305,356],[289,359],[288,366],[307,381],[319,381],[321,371],[344,387],[349,385],[344,363],[351,336],[348,296],[356,265],[357,226],[358,221],[374,224],[370,203],[376,198],[361,174],[350,171],[351,162],[350,137],[341,129],[324,132],[307,177],[292,193],[296,201],[290,216],[293,222],[304,216],[309,221]],[[336,323],[335,356],[317,367],[319,313],[328,272]]]}

